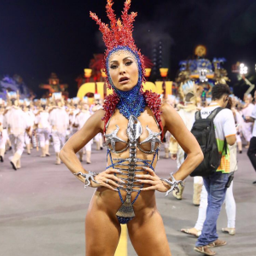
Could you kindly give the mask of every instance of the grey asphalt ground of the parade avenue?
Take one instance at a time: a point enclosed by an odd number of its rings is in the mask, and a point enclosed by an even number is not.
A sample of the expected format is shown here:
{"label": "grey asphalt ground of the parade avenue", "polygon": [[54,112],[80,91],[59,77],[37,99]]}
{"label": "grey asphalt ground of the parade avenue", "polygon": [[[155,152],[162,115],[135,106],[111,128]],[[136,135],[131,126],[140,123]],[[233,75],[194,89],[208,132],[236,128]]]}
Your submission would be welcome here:
{"label": "grey asphalt ground of the parade avenue", "polygon": [[[94,148],[94,147],[93,147]],[[40,152],[22,155],[21,169],[14,171],[6,154],[0,163],[0,255],[1,256],[84,256],[84,217],[94,189],[84,189],[67,167],[55,166],[55,154],[40,158]],[[163,148],[156,172],[168,177],[176,171],[176,162],[163,159]],[[100,172],[106,166],[106,150],[92,152],[92,164],[85,168]],[[214,248],[218,255],[256,255],[256,172],[245,150],[238,154],[234,180],[236,199],[236,236],[221,233],[226,227],[224,207],[218,218],[218,233],[228,242]],[[173,256],[193,256],[196,238],[179,230],[195,225],[198,207],[192,204],[193,179],[187,179],[183,200],[156,193],[157,206],[164,220]],[[152,230],[157,232],[157,230]],[[108,246],[108,245],[106,245]],[[128,238],[128,255],[135,256]],[[157,252],[155,253],[157,256]],[[120,253],[116,256],[125,256]]]}

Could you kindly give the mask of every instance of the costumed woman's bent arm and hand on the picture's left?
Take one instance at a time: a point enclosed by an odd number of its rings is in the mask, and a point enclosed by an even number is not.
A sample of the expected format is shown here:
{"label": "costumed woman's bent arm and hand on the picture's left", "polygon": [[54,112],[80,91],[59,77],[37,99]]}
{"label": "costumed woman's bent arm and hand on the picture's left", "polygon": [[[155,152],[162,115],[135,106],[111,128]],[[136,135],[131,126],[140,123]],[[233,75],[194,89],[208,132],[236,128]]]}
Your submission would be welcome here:
{"label": "costumed woman's bent arm and hand on the picture's left", "polygon": [[[104,123],[102,121],[102,117],[104,116],[103,110],[98,110],[94,113],[90,119],[86,121],[83,128],[76,132],[73,137],[71,137],[67,143],[61,148],[60,158],[63,163],[67,166],[67,168],[73,172],[78,173],[82,172],[84,174],[88,173],[84,170],[84,167],[80,163],[76,153],[79,152],[81,148],[90,142],[90,140],[96,136],[99,132],[103,131]],[[96,175],[95,180],[96,183],[91,183],[92,187],[104,186],[108,189],[116,190],[115,187],[119,187],[117,183],[114,181],[118,181],[122,183],[122,180],[118,177],[115,177],[113,173],[119,173],[118,170],[108,169],[105,172],[101,172]],[[85,178],[82,175],[77,176],[80,181],[85,182]],[[106,183],[107,181],[107,183]],[[113,185],[114,188],[111,186]]]}

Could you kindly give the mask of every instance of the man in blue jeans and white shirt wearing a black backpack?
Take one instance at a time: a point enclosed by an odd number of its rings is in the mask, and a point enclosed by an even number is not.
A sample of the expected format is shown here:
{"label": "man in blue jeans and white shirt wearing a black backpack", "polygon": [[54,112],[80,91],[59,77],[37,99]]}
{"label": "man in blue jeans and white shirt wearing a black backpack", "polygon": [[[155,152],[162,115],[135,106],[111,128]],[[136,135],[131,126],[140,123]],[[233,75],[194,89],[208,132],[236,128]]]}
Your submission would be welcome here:
{"label": "man in blue jeans and white shirt wearing a black backpack", "polygon": [[207,218],[194,248],[196,252],[205,255],[215,255],[211,248],[226,244],[226,241],[218,239],[216,224],[226,189],[232,181],[227,144],[236,143],[236,125],[231,110],[225,108],[230,94],[227,84],[214,85],[212,103],[195,114],[195,124],[191,131],[205,157],[201,165],[191,173],[191,176],[203,177],[208,192]]}

